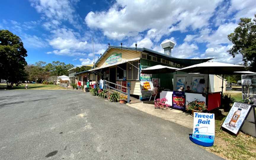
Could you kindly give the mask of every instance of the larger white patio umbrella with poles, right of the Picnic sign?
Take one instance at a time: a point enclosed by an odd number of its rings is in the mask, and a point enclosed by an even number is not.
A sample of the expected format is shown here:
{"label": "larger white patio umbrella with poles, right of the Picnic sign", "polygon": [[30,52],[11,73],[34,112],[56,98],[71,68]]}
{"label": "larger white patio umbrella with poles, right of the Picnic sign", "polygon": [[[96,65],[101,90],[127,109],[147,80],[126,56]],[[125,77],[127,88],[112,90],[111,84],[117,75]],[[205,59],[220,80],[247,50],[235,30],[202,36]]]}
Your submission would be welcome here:
{"label": "larger white patio umbrella with poles, right of the Picnic sign", "polygon": [[[187,73],[200,73],[208,74],[208,84],[207,84],[207,95],[209,94],[209,74],[234,74],[237,71],[245,71],[245,67],[241,65],[229,64],[229,63],[220,63],[220,62],[204,62],[188,66],[185,68],[178,69],[177,71],[183,71]],[[223,95],[223,79],[222,79],[222,92]],[[208,101],[208,96],[207,96]],[[207,102],[208,103],[208,102]]]}

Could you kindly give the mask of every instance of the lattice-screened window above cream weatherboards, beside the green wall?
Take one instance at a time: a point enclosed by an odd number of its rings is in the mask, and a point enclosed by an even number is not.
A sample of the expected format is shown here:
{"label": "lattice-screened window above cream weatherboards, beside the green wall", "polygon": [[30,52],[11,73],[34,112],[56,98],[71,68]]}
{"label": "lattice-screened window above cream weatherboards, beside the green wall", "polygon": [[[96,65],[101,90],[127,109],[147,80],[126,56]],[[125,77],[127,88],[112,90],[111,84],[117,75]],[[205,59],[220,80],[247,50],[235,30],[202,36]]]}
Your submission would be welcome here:
{"label": "lattice-screened window above cream weatherboards, beside the green wall", "polygon": [[134,61],[130,63],[127,63],[127,80],[138,80],[139,79],[138,61]]}

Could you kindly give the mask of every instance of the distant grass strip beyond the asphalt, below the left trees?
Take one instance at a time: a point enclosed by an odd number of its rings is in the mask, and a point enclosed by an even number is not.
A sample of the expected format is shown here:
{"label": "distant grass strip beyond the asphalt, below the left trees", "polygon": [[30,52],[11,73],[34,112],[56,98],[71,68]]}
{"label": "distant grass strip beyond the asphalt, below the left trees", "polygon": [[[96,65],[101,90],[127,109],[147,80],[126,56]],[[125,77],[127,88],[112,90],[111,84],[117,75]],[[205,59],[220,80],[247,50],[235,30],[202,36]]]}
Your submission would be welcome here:
{"label": "distant grass strip beyond the asphalt, below the left trees", "polygon": [[[11,89],[25,89],[25,83],[23,83],[21,86],[13,86]],[[0,84],[0,89],[7,89],[7,86],[5,83]],[[35,84],[31,83],[28,84],[28,89],[44,89],[44,90],[58,90],[58,89],[65,89],[59,85],[54,85],[54,84]]]}

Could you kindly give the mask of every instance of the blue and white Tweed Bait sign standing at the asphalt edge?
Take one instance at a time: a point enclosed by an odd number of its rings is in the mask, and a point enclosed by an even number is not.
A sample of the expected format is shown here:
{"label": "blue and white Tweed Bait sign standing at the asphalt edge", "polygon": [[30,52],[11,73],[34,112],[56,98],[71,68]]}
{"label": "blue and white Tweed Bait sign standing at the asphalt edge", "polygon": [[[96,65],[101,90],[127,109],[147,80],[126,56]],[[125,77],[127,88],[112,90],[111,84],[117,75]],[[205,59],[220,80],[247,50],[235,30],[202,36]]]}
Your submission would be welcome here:
{"label": "blue and white Tweed Bait sign standing at the asphalt edge", "polygon": [[214,114],[194,112],[193,134],[190,135],[190,140],[198,145],[210,147],[214,143],[214,137]]}

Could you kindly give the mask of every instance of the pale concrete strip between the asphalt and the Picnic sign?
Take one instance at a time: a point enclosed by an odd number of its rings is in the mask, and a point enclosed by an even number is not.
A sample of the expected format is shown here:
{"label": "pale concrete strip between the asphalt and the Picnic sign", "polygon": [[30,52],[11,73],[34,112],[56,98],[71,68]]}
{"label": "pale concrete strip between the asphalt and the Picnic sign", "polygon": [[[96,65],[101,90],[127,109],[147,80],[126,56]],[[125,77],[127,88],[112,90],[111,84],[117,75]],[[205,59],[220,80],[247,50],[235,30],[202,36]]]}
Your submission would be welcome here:
{"label": "pale concrete strip between the asphalt and the Picnic sign", "polygon": [[126,104],[129,107],[136,108],[137,110],[146,112],[156,117],[169,120],[177,123],[178,125],[193,129],[193,116],[184,113],[181,110],[175,110],[172,108],[167,109],[155,109],[154,105],[141,103]]}

